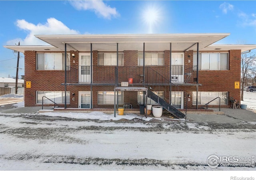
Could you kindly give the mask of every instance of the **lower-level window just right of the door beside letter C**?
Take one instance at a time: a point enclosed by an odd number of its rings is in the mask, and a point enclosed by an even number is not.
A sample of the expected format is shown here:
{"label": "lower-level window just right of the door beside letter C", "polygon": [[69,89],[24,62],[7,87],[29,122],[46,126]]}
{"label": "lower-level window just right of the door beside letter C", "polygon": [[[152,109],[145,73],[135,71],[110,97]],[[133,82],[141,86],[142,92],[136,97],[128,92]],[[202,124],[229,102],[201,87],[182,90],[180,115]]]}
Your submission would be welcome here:
{"label": "lower-level window just right of the door beside letter C", "polygon": [[[114,91],[98,91],[98,104],[114,104]],[[118,104],[124,104],[123,92],[118,92]]]}

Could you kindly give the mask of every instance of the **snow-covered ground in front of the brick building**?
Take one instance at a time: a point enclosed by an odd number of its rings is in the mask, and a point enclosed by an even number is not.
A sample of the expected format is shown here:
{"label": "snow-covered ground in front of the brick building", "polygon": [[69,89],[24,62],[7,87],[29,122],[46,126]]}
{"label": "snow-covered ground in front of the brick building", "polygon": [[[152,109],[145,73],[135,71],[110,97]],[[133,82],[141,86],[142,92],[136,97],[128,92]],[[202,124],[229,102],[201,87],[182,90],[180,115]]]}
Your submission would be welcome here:
{"label": "snow-covered ground in front of the brick building", "polygon": [[[245,92],[241,103],[256,110],[256,92]],[[15,106],[22,107],[24,104],[21,102]],[[253,176],[256,179],[256,168],[210,168],[206,163],[210,155],[255,156],[255,128],[224,129],[222,124],[149,122],[137,115],[125,117],[128,120],[124,120],[124,116],[113,119],[113,115],[102,112],[0,113],[0,170],[86,170],[86,174],[82,175],[81,172],[70,172],[71,176],[50,172],[50,179],[53,176],[56,178],[56,175],[63,179],[77,175],[88,178],[88,171],[92,171],[90,175],[96,179],[173,179],[175,176],[179,179],[216,179],[216,171],[228,171],[224,175],[219,172],[219,179],[230,180],[230,176]],[[210,175],[196,174],[196,178],[185,175],[188,171],[193,171],[190,172],[193,174],[194,170],[208,172]],[[110,171],[110,174],[99,175],[95,171]],[[120,171],[124,174],[117,176]],[[162,171],[175,172],[171,178],[170,174]],[[7,174],[13,176],[12,173]],[[38,174],[42,177],[46,173]],[[38,174],[35,175],[38,177]]]}

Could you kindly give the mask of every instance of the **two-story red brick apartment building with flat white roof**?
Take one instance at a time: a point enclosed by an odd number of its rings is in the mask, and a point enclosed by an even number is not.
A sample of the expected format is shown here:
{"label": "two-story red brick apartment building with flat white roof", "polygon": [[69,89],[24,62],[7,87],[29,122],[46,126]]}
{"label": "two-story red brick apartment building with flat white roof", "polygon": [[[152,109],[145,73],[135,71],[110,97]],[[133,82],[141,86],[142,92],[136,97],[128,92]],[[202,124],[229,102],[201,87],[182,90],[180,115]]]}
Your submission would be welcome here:
{"label": "two-story red brick apartment building with flat white roof", "polygon": [[[113,108],[114,88],[129,82],[172,107],[196,109],[216,97],[222,107],[240,100],[241,53],[256,45],[213,44],[228,35],[36,35],[50,46],[5,47],[25,55],[25,106],[52,100],[65,108]],[[144,92],[118,91],[119,107],[139,108],[145,99]],[[148,104],[156,104],[152,99]]]}

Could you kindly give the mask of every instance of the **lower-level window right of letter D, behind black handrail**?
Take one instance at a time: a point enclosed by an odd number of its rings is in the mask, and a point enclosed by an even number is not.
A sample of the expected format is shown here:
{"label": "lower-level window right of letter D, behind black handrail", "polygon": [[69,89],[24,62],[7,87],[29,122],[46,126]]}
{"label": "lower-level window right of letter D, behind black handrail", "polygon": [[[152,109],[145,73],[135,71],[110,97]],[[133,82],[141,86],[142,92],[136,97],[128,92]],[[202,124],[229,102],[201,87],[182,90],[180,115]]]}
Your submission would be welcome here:
{"label": "lower-level window right of letter D, behind black handrail", "polygon": [[[198,104],[204,105],[217,97],[220,97],[221,105],[228,105],[228,92],[198,92]],[[196,104],[196,92],[193,92],[193,104]],[[218,99],[210,102],[210,105],[218,104]]]}

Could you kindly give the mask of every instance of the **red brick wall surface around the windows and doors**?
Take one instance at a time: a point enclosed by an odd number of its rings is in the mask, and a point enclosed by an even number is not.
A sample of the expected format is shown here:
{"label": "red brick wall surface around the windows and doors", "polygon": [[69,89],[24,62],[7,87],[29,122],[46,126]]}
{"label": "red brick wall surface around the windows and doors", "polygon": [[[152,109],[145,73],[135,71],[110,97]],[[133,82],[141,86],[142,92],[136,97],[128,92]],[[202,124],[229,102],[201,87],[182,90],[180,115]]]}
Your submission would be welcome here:
{"label": "red brick wall surface around the windows and doors", "polygon": [[[70,66],[78,68],[78,53],[77,51],[70,51],[70,54],[75,54],[75,57],[70,57]],[[87,52],[90,53],[90,52]],[[133,78],[134,83],[139,83],[140,77],[138,74],[142,73],[142,66],[138,67],[138,51],[124,51],[124,66],[119,67],[120,81],[128,81],[128,77]],[[170,65],[170,51],[164,51],[164,66],[151,67],[158,73],[163,74],[166,80],[169,80],[169,68]],[[36,70],[36,52],[25,51],[25,106],[36,105],[36,91],[64,91],[64,70]],[[229,97],[240,100],[240,89],[234,89],[234,82],[240,82],[240,50],[230,50],[230,62],[229,70],[200,70],[199,71],[199,91],[218,91],[229,92]],[[188,62],[190,60],[190,63]],[[74,63],[73,63],[74,61]],[[193,66],[193,51],[184,52],[185,68]],[[133,72],[128,69],[128,66],[134,66]],[[167,66],[167,67],[166,67]],[[122,75],[123,73],[123,75]],[[147,73],[147,72],[146,72]],[[127,75],[128,74],[128,75]],[[77,74],[78,76],[78,74]],[[122,79],[122,76],[123,79]],[[146,74],[150,77],[151,82],[160,82],[159,76],[155,74]],[[77,78],[78,79],[78,78]],[[26,81],[31,81],[31,88],[26,88]],[[93,83],[114,83],[114,66],[98,66],[98,51],[93,51]],[[180,86],[182,90],[190,94],[190,101],[188,101],[188,108],[195,108],[192,105],[192,92],[196,91],[196,86]],[[169,99],[169,88],[164,86],[162,88],[153,87],[153,91],[159,90],[166,91],[164,96]],[[78,107],[78,91],[90,91],[90,85],[69,85],[67,91],[70,91],[70,104],[67,107]],[[114,91],[114,86],[92,86],[93,94],[93,108],[112,108],[113,105],[98,104],[98,91]],[[177,91],[176,87],[172,87],[172,91]],[[75,95],[72,96],[72,93]],[[134,108],[138,108],[137,105],[137,93],[138,92],[124,92],[124,103],[130,103]],[[186,96],[186,95],[185,95]],[[72,98],[74,97],[74,101]],[[184,102],[186,101],[184,97]],[[40,106],[40,104],[38,104]],[[64,106],[64,105],[62,105]]]}

